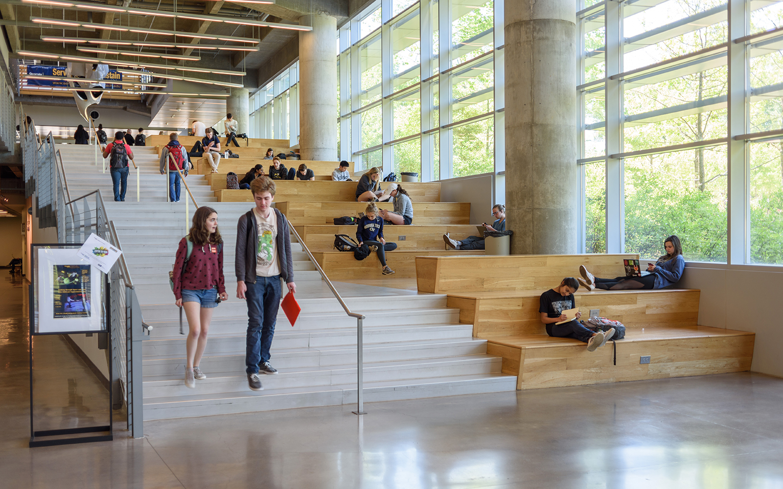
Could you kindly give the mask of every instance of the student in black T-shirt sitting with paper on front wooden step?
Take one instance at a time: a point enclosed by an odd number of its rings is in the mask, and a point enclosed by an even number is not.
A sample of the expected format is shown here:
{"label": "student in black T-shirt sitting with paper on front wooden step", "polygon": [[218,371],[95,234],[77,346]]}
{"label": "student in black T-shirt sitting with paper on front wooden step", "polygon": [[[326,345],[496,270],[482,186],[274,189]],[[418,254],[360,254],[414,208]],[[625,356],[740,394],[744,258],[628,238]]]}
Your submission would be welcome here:
{"label": "student in black T-shirt sitting with paper on front wooden step", "polygon": [[[595,333],[579,322],[579,318],[582,317],[581,312],[577,312],[576,318],[568,321],[568,317],[563,314],[563,311],[576,308],[574,293],[578,289],[579,282],[576,282],[576,279],[573,277],[566,277],[560,282],[559,286],[541,294],[541,305],[539,307],[541,322],[547,327],[549,336],[573,338],[587,343],[587,351],[595,351],[598,347],[603,347],[608,340],[612,339],[612,336],[615,335],[615,329],[612,328],[606,332],[599,331]],[[568,322],[559,325],[555,324],[561,321]]]}

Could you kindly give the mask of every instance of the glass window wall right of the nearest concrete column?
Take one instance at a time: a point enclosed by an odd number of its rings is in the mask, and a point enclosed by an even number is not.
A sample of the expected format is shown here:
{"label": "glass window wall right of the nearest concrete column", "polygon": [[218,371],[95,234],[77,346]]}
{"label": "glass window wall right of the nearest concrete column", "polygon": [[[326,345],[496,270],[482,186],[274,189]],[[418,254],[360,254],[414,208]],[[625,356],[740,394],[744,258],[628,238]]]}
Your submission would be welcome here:
{"label": "glass window wall right of the nearest concrete column", "polygon": [[583,250],[783,264],[783,2],[576,11]]}

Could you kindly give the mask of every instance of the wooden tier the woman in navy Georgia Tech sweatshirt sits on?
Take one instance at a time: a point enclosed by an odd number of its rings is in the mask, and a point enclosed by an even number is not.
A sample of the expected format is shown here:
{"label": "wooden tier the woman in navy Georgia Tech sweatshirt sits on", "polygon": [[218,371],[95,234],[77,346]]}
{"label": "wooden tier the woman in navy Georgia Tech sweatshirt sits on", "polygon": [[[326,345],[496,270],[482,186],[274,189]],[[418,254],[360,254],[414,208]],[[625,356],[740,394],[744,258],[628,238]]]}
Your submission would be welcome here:
{"label": "wooden tier the woman in navy Georgia Tech sweatshirt sits on", "polygon": [[[332,237],[334,240],[334,236]],[[388,241],[394,241],[389,239]],[[396,242],[395,242],[396,243]],[[447,256],[453,253],[471,253],[481,255],[483,250],[477,251],[404,251],[394,250],[386,253],[386,263],[395,271],[391,277],[411,278],[416,276],[416,257],[421,255],[428,256]],[[332,280],[341,279],[376,279],[381,277],[381,263],[378,261],[377,254],[371,253],[364,260],[356,260],[351,252],[345,251],[314,251],[312,255],[327,276]]]}

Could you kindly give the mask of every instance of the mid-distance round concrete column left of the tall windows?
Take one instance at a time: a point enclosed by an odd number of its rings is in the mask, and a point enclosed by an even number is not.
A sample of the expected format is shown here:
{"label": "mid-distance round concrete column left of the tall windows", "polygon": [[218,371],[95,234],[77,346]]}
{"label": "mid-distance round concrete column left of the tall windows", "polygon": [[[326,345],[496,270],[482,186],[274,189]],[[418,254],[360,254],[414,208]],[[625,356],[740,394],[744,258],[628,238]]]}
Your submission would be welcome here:
{"label": "mid-distance round concrete column left of the tall windows", "polygon": [[299,146],[302,160],[337,161],[337,19],[301,16]]}

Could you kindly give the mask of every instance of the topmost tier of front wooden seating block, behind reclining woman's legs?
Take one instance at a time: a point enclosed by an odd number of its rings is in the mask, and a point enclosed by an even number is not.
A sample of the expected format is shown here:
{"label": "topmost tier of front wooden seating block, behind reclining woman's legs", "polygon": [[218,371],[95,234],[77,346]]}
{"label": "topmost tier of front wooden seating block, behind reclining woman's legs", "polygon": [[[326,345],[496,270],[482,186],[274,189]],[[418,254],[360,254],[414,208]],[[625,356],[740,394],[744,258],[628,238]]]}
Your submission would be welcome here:
{"label": "topmost tier of front wooden seating block, behind reclining woman's legs", "polygon": [[598,277],[625,275],[623,258],[638,259],[639,255],[421,257],[417,259],[417,284],[419,292],[429,293],[548,289],[560,284],[564,277],[578,277],[580,264]]}

